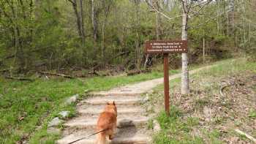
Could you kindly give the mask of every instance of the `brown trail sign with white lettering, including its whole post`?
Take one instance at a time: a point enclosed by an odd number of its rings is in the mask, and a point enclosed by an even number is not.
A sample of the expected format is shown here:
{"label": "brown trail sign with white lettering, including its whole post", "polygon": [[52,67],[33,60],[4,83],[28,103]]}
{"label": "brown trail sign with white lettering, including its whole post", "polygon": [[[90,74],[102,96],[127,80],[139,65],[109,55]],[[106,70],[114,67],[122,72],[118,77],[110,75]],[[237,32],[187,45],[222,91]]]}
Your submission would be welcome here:
{"label": "brown trail sign with white lettering, including its whole post", "polygon": [[154,40],[146,42],[147,54],[159,54],[164,56],[164,86],[165,86],[165,112],[170,115],[170,96],[169,96],[169,53],[187,53],[187,40]]}

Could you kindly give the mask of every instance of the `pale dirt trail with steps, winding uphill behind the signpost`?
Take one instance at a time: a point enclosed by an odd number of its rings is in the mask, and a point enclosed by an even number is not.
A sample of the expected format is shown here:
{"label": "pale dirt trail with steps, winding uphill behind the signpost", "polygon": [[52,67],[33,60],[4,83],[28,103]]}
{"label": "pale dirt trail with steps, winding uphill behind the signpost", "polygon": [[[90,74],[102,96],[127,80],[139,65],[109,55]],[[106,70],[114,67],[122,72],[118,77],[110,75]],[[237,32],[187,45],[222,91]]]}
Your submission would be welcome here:
{"label": "pale dirt trail with steps, winding uphill behind the signpost", "polygon": [[[200,72],[215,65],[190,70],[189,74]],[[170,80],[181,77],[181,74],[171,75]],[[145,94],[152,88],[163,83],[163,78],[147,80],[110,91],[99,91],[93,93],[89,99],[84,99],[78,103],[78,116],[66,121],[62,132],[61,140],[56,143],[67,144],[81,137],[94,133],[99,113],[102,112],[106,102],[115,101],[118,110],[118,129],[116,135],[110,143],[113,144],[146,144],[151,143],[151,130],[147,129],[147,122],[151,119],[146,110],[140,106],[145,99],[141,94]],[[96,136],[80,140],[80,144],[94,143]]]}

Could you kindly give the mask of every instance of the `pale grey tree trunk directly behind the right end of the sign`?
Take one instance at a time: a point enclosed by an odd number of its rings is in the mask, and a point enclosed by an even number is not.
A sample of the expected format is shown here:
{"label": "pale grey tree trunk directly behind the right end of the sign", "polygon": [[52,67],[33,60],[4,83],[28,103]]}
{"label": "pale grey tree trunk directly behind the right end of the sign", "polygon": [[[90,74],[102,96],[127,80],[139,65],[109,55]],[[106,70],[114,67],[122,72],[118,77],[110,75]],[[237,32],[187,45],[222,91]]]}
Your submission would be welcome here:
{"label": "pale grey tree trunk directly behind the right end of the sign", "polygon": [[[187,21],[187,0],[185,0],[182,14],[182,40],[187,40]],[[182,53],[181,94],[189,94],[189,70],[187,53]]]}

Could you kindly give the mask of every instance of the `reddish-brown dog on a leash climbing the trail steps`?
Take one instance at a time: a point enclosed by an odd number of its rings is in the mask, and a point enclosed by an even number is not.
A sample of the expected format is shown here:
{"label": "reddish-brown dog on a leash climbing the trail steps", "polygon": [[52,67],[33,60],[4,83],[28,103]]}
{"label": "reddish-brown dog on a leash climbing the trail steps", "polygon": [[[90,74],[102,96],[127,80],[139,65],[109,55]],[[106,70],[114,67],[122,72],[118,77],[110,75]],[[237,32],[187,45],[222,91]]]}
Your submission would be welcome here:
{"label": "reddish-brown dog on a leash climbing the trail steps", "polygon": [[112,104],[107,103],[104,111],[100,113],[99,119],[97,122],[97,132],[104,130],[103,132],[99,132],[97,134],[96,144],[105,144],[107,143],[106,137],[108,136],[110,140],[113,139],[113,134],[116,130],[116,117],[117,110],[116,104],[113,102]]}

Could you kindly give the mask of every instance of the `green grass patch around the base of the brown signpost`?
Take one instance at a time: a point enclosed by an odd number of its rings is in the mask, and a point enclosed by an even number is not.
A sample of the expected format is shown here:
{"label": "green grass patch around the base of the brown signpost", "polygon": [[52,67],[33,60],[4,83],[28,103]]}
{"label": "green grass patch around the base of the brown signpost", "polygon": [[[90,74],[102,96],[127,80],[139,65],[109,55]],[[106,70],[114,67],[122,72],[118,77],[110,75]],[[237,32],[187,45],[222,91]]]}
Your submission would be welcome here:
{"label": "green grass patch around the base of the brown signpost", "polygon": [[159,113],[157,121],[162,130],[154,136],[154,143],[203,143],[202,138],[189,134],[192,127],[199,124],[198,118],[190,117],[183,121],[182,115],[181,110],[174,106],[170,108],[170,116],[167,116],[164,111]]}

